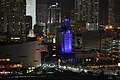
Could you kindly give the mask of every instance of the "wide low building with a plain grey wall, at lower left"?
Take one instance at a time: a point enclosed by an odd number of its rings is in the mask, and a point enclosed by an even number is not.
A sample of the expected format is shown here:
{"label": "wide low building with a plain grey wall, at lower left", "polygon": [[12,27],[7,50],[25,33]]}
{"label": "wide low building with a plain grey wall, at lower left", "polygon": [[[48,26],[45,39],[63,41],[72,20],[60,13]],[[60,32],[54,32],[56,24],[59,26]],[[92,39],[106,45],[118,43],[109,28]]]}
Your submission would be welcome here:
{"label": "wide low building with a plain grey wall, at lower left", "polygon": [[21,62],[23,68],[41,64],[40,41],[0,46],[0,59]]}

